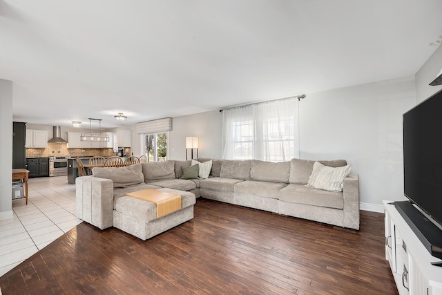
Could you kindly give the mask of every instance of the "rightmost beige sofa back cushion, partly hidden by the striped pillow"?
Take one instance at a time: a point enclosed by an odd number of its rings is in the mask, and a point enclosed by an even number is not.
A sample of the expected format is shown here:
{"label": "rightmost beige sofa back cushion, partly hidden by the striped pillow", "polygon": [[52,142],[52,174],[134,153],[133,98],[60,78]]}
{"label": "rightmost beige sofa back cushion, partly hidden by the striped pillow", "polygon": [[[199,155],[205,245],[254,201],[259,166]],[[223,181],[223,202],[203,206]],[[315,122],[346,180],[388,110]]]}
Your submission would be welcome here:
{"label": "rightmost beige sofa back cushion, partly hidden by the striped pillow", "polygon": [[[313,165],[316,161],[291,159],[290,161],[290,177],[289,182],[293,184],[307,184]],[[342,167],[347,165],[346,160],[318,161],[329,167]]]}

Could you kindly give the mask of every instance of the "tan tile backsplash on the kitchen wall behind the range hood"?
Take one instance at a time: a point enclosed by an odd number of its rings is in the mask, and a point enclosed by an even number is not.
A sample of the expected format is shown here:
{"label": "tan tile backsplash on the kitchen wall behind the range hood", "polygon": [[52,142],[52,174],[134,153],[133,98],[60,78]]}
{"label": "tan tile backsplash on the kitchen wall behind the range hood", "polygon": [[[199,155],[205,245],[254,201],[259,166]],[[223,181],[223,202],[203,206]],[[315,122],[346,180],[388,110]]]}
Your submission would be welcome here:
{"label": "tan tile backsplash on the kitchen wall behind the range hood", "polygon": [[[131,148],[125,148],[126,155],[131,155]],[[109,157],[116,155],[113,149],[68,149],[65,142],[48,142],[46,149],[26,149],[26,158],[45,158],[61,156],[94,156]]]}

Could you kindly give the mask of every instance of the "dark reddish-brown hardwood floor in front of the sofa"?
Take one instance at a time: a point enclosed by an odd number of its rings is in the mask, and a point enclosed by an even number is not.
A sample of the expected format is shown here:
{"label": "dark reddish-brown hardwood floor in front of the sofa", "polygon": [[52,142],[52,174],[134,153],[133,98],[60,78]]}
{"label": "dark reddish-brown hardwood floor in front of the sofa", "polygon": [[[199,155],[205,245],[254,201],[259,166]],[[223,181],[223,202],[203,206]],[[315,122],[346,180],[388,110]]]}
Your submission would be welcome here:
{"label": "dark reddish-brown hardwood floor in front of the sofa", "polygon": [[199,198],[142,241],[81,223],[0,278],[3,294],[398,294],[383,214],[361,230]]}

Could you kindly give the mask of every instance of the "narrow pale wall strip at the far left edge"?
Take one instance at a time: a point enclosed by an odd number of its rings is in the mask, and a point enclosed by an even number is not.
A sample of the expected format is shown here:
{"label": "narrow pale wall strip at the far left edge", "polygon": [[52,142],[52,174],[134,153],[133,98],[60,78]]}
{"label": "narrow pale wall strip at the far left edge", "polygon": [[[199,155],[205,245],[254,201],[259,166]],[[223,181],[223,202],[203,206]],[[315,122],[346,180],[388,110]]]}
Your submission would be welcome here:
{"label": "narrow pale wall strip at the far left edge", "polygon": [[0,79],[0,220],[12,218],[12,81]]}

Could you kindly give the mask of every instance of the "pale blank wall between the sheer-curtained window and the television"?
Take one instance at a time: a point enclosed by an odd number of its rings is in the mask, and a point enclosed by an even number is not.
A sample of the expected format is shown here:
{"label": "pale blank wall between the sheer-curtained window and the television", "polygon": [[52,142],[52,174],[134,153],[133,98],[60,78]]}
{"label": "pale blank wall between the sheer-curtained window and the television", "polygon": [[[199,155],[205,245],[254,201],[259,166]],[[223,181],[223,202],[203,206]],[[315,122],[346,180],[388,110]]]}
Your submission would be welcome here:
{"label": "pale blank wall between the sheer-curtained window and the television", "polygon": [[414,77],[307,94],[300,101],[300,158],[345,159],[358,173],[362,209],[403,196],[402,115],[415,105]]}

